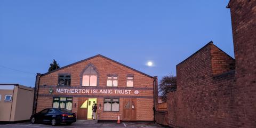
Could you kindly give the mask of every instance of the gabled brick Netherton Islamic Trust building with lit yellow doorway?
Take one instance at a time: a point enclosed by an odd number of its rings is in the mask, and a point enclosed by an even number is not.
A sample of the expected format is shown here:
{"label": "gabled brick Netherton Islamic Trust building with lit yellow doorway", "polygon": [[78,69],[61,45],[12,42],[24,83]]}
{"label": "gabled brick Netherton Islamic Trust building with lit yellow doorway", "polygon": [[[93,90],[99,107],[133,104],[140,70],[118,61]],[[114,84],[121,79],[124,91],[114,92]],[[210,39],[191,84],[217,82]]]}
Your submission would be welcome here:
{"label": "gabled brick Netherton Islamic Trust building with lit yellow doorway", "polygon": [[154,121],[157,77],[102,55],[37,74],[34,112],[66,108],[78,119],[91,119],[97,103],[99,120]]}

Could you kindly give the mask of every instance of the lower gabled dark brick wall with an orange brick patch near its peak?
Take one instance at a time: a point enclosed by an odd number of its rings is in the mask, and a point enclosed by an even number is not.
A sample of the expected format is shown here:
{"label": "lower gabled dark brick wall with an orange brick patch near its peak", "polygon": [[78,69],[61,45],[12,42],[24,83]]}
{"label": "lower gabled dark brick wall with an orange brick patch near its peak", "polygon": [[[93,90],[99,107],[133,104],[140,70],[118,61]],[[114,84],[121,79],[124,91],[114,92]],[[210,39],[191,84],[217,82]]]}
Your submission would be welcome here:
{"label": "lower gabled dark brick wall with an orange brick patch near its peak", "polygon": [[[172,127],[231,126],[234,59],[212,43],[177,65],[177,91],[167,95]],[[229,71],[228,73],[223,73]],[[234,123],[234,122],[232,122]]]}

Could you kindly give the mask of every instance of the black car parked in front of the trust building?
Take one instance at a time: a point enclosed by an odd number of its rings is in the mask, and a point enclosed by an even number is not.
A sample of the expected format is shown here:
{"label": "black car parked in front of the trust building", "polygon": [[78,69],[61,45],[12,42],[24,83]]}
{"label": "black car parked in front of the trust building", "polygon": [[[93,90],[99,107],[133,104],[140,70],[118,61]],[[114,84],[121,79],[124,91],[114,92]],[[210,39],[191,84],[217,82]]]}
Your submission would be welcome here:
{"label": "black car parked in front of the trust building", "polygon": [[68,125],[76,122],[76,114],[63,108],[46,108],[30,117],[31,123],[51,123],[53,126],[66,123]]}

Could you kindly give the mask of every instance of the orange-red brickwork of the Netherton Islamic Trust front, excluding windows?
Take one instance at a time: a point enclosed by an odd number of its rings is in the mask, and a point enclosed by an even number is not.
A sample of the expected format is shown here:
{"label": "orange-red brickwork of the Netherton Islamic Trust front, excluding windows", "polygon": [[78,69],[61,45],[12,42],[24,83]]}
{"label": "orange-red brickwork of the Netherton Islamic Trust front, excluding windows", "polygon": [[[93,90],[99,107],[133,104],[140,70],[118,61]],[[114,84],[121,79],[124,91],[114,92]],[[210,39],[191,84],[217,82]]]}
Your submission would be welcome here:
{"label": "orange-red brickwork of the Netherton Islamic Trust front, excluding windows", "polygon": [[[59,73],[70,73],[71,74],[71,87],[81,87],[81,73],[83,69],[92,63],[92,65],[97,68],[98,77],[99,77],[99,85],[96,87],[97,89],[119,89],[119,87],[123,87],[122,89],[132,90],[131,94],[125,94],[125,96],[135,96],[137,98],[137,120],[138,121],[154,121],[154,95],[153,95],[153,82],[154,78],[145,76],[143,74],[138,73],[137,71],[131,70],[130,68],[124,67],[115,63],[109,59],[104,57],[95,57],[90,60],[83,61],[81,63],[77,63],[76,65],[63,68],[57,70],[53,73],[43,75],[40,77],[39,80],[39,97],[37,102],[37,111],[40,111],[47,107],[52,107],[52,97],[54,95],[58,95],[56,93],[57,84],[58,84],[58,74]],[[118,74],[118,87],[107,87],[107,74]],[[126,87],[126,78],[127,74],[134,75],[134,88],[133,87]],[[46,84],[46,86],[43,86]],[[43,97],[42,95],[46,94],[49,96],[49,89],[52,87],[54,92],[51,94],[51,97]],[[62,87],[66,89],[67,87]],[[95,87],[94,87],[95,88]],[[91,87],[83,87],[83,89],[91,89]],[[134,90],[139,90],[139,94],[135,95]],[[61,93],[63,94],[63,93]],[[72,111],[77,113],[77,106],[78,105],[78,97],[76,95],[81,94],[74,94],[74,93],[65,93],[64,95],[72,95],[73,96],[73,108]],[[101,104],[101,109],[98,111],[99,119],[103,120],[117,120],[118,114],[121,116],[121,120],[123,117],[123,99],[122,94],[89,94],[90,97],[97,97],[98,95],[115,95],[120,96],[119,98],[119,112],[106,112],[103,111],[103,98],[98,98],[98,107]],[[87,94],[85,94],[87,97]],[[140,98],[140,97],[148,97],[148,98]]]}

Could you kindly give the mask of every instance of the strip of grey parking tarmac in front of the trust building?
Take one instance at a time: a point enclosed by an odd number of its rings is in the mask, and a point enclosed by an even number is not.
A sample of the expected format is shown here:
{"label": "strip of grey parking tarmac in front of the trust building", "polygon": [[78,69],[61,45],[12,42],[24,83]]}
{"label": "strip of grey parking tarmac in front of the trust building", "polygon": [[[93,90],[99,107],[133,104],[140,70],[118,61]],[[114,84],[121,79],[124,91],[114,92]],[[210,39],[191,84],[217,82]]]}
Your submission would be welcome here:
{"label": "strip of grey parking tarmac in front of the trust building", "polygon": [[50,124],[31,124],[30,122],[26,123],[17,123],[17,124],[0,124],[1,128],[12,128],[12,127],[31,127],[31,128],[52,128],[52,127],[66,127],[66,128],[75,128],[75,127],[109,127],[109,128],[117,128],[117,127],[162,127],[160,125],[148,122],[125,122],[121,124],[117,123],[98,123],[95,124],[94,122],[87,122],[87,121],[78,121],[71,125],[60,124],[57,126],[52,126]]}

